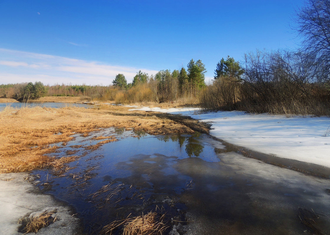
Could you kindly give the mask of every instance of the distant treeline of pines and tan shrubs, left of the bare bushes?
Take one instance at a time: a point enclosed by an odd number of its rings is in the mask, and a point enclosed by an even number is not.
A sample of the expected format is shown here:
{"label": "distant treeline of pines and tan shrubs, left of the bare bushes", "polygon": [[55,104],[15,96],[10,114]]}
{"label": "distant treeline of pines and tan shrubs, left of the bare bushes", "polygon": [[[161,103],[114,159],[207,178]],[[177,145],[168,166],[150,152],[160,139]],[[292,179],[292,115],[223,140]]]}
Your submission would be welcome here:
{"label": "distant treeline of pines and tan shrubs, left of the bare bushes", "polygon": [[41,82],[34,84],[19,83],[0,85],[0,95],[23,101],[42,96],[89,96],[101,101],[114,100],[117,103],[135,103],[143,101],[167,102],[178,98],[193,101],[205,85],[205,65],[201,60],[193,59],[179,70],[161,70],[149,75],[141,70],[137,72],[132,83],[127,83],[123,74],[117,74],[113,86],[87,85],[53,85],[44,86]]}

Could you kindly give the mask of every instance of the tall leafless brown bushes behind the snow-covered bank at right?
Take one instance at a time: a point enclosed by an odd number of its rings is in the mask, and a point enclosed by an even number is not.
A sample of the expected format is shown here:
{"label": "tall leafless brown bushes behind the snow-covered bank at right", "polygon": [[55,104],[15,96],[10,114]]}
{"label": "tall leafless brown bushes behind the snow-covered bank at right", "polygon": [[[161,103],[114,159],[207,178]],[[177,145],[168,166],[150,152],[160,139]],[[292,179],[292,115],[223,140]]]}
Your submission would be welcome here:
{"label": "tall leafless brown bushes behind the snow-covered bank at right", "polygon": [[330,90],[318,76],[304,53],[251,52],[239,79],[221,75],[200,100],[204,110],[330,115]]}

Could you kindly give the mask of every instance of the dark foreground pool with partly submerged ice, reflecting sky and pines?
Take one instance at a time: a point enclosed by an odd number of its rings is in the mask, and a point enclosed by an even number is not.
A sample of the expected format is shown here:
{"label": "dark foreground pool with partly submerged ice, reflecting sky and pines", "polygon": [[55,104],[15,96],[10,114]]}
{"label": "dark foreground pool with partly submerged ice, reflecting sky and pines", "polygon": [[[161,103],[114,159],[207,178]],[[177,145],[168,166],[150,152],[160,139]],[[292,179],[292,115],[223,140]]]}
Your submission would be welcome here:
{"label": "dark foreground pool with partly submerged ice, reflecting sky and pines", "polygon": [[[101,135],[118,141],[87,150]],[[149,211],[166,212],[165,234],[329,234],[327,179],[226,151],[203,134],[110,128],[75,137],[55,154],[81,156],[71,168],[32,173],[41,190],[76,208],[86,234]]]}

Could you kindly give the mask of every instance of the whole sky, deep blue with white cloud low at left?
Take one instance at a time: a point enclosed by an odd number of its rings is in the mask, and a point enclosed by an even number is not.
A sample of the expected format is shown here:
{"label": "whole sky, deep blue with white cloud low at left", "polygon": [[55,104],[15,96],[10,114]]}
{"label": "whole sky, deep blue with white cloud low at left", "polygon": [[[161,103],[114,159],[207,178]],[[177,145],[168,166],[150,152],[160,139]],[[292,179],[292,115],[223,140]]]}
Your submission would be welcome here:
{"label": "whole sky, deep blue with white cloud low at left", "polygon": [[227,55],[294,48],[287,1],[0,0],[0,84],[109,85],[138,70],[206,65],[206,81]]}

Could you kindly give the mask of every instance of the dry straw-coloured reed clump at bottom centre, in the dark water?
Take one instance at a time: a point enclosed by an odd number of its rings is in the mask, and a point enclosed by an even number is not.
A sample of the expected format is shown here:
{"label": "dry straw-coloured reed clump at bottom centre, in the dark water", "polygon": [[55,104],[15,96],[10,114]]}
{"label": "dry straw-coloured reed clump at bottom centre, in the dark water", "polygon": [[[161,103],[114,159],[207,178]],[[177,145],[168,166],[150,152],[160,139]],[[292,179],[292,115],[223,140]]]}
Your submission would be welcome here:
{"label": "dry straw-coloured reed clump at bottom centre, in the dark water", "polygon": [[101,234],[112,235],[113,231],[123,227],[122,235],[161,235],[168,228],[164,222],[165,214],[149,212],[146,215],[114,221],[103,227]]}

